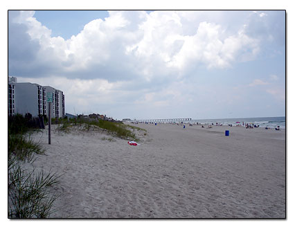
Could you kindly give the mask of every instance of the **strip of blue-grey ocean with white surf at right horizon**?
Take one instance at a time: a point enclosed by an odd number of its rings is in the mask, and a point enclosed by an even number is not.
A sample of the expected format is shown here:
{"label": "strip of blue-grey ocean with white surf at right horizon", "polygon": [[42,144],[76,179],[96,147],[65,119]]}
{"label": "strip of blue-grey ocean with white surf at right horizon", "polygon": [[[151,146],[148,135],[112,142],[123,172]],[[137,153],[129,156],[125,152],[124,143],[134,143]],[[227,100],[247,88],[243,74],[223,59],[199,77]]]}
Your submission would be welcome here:
{"label": "strip of blue-grey ocean with white surf at right horizon", "polygon": [[[238,122],[238,123],[237,123]],[[239,123],[240,122],[240,123]],[[223,118],[223,119],[206,119],[206,120],[196,120],[192,119],[189,123],[202,123],[202,124],[216,124],[221,123],[222,125],[238,125],[242,122],[253,123],[254,125],[259,125],[259,127],[270,127],[275,128],[280,126],[280,128],[285,129],[286,127],[286,118],[285,116],[278,117],[256,117],[256,118]]]}

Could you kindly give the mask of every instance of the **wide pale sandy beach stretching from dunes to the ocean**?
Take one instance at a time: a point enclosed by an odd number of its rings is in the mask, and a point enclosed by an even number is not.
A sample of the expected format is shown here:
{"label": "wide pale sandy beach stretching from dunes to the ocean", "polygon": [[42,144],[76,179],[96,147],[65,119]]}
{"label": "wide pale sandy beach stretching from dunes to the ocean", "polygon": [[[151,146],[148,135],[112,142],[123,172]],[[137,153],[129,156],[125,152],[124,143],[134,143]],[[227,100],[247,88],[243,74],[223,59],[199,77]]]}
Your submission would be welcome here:
{"label": "wide pale sandy beach stretching from dunes to the ocean", "polygon": [[35,167],[62,174],[51,217],[285,218],[284,130],[135,126],[137,146],[57,125],[51,145],[48,127],[32,135],[46,149]]}

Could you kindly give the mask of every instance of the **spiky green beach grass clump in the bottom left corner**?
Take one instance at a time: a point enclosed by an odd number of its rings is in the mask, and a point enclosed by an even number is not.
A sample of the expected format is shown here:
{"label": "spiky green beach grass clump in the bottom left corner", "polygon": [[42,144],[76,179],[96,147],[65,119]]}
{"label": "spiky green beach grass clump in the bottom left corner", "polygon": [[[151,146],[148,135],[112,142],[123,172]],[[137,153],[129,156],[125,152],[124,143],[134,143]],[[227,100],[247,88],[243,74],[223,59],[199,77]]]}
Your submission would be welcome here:
{"label": "spiky green beach grass clump in the bottom left corner", "polygon": [[59,197],[51,187],[60,175],[26,170],[15,157],[8,163],[8,218],[46,218]]}

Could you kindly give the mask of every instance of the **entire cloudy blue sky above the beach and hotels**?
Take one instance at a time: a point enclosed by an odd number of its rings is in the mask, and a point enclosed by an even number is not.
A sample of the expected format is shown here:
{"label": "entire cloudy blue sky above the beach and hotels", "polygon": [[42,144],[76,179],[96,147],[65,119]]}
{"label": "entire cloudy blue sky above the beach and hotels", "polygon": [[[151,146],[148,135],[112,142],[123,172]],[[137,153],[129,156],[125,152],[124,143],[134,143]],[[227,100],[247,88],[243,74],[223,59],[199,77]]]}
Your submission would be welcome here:
{"label": "entire cloudy blue sky above the beach and hotels", "polygon": [[8,75],[69,114],[285,116],[285,10],[8,11]]}

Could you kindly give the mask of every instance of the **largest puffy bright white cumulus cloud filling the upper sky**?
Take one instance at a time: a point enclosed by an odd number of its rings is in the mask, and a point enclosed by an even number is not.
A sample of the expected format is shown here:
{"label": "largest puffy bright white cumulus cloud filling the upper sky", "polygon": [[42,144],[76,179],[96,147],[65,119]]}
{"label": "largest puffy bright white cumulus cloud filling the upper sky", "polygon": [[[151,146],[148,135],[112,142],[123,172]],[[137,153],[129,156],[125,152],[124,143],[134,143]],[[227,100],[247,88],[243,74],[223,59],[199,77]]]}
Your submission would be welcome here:
{"label": "largest puffy bright white cumulus cloud filling the upper sky", "polygon": [[[259,52],[259,40],[249,37],[241,27],[226,35],[222,25],[202,21],[187,32],[187,24],[198,20],[198,11],[110,11],[109,17],[89,21],[71,39],[51,37],[51,30],[42,26],[33,11],[9,13],[10,73],[15,69],[18,48],[32,46],[31,57],[19,51],[19,58],[30,59],[32,70],[24,76],[46,76],[53,73],[68,78],[105,78],[152,80],[155,76],[184,74],[195,66],[227,68],[237,60],[251,60]],[[21,26],[22,29],[18,29]],[[26,36],[14,41],[17,34]],[[44,68],[44,69],[42,69]],[[40,73],[40,71],[42,73]]]}

